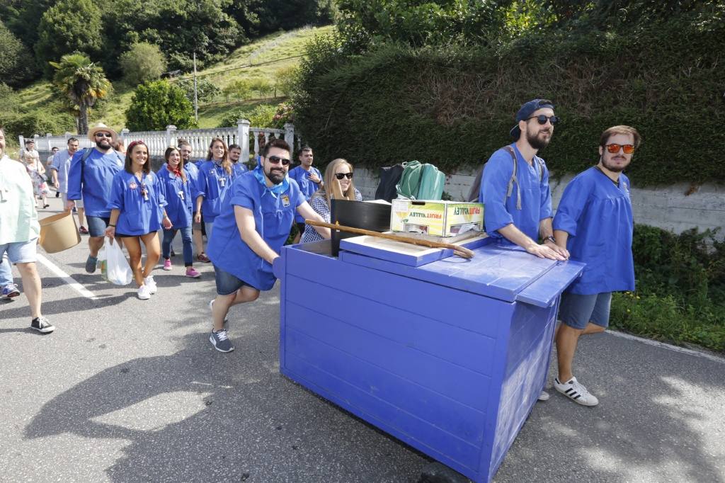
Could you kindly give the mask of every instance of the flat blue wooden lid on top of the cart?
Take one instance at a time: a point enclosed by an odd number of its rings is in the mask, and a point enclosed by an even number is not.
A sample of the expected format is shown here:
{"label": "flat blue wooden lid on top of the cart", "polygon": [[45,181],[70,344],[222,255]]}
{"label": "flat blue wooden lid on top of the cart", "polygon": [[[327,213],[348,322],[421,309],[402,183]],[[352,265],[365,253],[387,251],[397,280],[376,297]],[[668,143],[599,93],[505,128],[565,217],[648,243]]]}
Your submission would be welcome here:
{"label": "flat blue wooden lid on top of the cart", "polygon": [[450,286],[507,302],[525,302],[549,307],[581,274],[584,263],[558,262],[535,257],[520,247],[490,241],[473,249],[469,260],[450,256],[418,267],[386,260],[381,250],[375,257],[342,251],[344,263],[397,273],[402,276]]}

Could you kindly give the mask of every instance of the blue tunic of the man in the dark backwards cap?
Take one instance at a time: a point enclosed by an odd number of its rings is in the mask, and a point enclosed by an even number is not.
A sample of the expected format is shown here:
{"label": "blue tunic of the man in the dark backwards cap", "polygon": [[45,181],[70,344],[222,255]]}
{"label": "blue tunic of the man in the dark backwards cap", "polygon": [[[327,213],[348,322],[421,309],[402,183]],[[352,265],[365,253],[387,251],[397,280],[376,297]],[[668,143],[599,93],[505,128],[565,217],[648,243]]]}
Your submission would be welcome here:
{"label": "blue tunic of the man in the dark backwards cap", "polygon": [[[513,183],[510,197],[506,197],[506,192],[513,174],[511,155],[505,149],[499,149],[491,155],[484,166],[479,202],[484,203],[486,233],[505,241],[497,230],[513,223],[516,228],[537,241],[539,222],[552,216],[549,170],[544,160],[537,156],[534,156],[534,161],[529,165],[516,145],[511,144],[511,146],[516,153],[518,182]],[[543,176],[540,170],[544,170]],[[519,192],[521,210],[516,207]]]}

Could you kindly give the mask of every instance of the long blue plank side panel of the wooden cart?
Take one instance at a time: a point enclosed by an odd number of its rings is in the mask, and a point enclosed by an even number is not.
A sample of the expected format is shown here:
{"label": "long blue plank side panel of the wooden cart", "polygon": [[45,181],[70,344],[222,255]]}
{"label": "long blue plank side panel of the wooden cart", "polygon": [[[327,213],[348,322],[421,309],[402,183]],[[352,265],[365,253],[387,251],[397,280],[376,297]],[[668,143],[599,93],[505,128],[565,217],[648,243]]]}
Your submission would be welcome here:
{"label": "long blue plank side panel of the wooden cart", "polygon": [[505,360],[495,351],[506,350],[497,321],[510,320],[513,304],[306,252],[291,253],[286,269],[281,371],[487,481],[491,374]]}

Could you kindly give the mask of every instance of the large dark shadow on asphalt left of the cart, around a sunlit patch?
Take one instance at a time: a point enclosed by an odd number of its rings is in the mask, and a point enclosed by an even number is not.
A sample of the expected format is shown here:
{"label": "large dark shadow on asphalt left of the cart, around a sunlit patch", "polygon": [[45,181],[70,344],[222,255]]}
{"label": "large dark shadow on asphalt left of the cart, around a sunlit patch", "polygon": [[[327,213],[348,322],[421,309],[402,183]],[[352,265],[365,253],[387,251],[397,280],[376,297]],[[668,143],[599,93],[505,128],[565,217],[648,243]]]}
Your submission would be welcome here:
{"label": "large dark shadow on asphalt left of the cart, around a sunlit patch", "polygon": [[105,469],[114,482],[415,482],[426,460],[279,374],[278,318],[259,320],[273,300],[234,314],[234,352],[214,350],[207,331],[186,334],[172,355],[133,358],[54,397],[24,436],[123,439]]}

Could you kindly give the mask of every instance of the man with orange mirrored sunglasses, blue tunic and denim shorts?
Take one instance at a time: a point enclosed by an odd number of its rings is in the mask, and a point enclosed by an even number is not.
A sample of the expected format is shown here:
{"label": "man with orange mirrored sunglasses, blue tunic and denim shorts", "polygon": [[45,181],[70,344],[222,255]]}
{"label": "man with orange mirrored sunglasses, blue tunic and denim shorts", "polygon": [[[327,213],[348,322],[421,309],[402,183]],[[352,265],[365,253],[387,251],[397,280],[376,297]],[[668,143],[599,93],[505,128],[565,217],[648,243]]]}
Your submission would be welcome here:
{"label": "man with orange mirrored sunglasses, blue tunic and denim shorts", "polygon": [[602,133],[599,162],[566,186],[554,217],[554,238],[572,260],[587,266],[561,296],[556,334],[559,375],[555,389],[581,405],[597,397],[573,376],[571,364],[582,334],[609,325],[612,292],[634,290],[632,205],[629,179],[622,170],[640,143],[636,129],[616,125]]}

